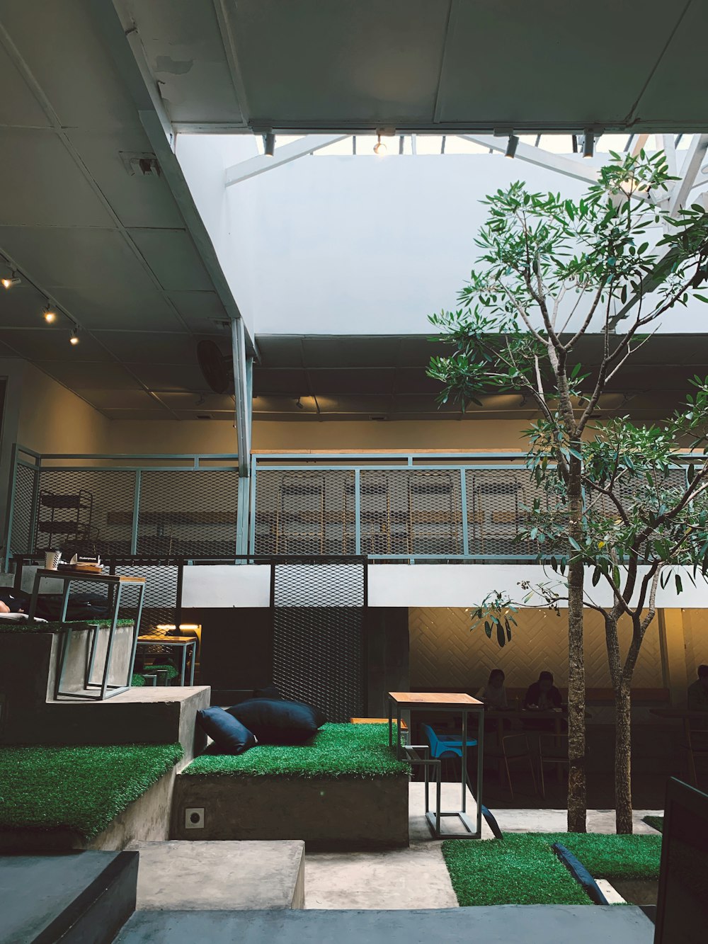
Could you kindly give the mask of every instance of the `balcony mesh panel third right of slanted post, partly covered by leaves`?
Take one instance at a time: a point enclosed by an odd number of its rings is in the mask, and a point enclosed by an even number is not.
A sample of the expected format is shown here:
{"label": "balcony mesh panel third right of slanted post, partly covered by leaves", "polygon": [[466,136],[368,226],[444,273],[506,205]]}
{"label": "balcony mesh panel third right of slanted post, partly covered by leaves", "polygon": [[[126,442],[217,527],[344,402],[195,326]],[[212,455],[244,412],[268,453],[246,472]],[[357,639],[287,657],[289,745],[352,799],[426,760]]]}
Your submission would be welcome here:
{"label": "balcony mesh panel third right of slanted post, partly covered by leaves", "polygon": [[519,541],[527,510],[536,494],[526,469],[467,469],[467,533],[471,556],[518,557],[538,552]]}

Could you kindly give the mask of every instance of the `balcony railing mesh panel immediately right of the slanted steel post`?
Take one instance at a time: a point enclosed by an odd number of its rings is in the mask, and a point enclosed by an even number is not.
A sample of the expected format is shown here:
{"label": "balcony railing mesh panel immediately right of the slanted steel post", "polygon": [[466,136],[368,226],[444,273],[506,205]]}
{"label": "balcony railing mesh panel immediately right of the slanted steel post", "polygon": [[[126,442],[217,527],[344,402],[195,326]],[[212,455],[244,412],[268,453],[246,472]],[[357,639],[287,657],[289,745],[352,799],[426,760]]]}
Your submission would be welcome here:
{"label": "balcony railing mesh panel immediately right of the slanted steel post", "polygon": [[352,469],[259,469],[254,553],[353,553],[353,485]]}

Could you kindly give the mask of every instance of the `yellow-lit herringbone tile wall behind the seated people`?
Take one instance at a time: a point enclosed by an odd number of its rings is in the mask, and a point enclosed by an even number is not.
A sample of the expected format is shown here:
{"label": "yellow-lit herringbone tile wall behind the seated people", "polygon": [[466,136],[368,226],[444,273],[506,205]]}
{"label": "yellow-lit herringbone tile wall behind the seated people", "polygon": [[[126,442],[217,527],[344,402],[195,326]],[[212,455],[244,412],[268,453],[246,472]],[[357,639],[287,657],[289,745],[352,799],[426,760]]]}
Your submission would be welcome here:
{"label": "yellow-lit herringbone tile wall behind the seated people", "polygon": [[[502,668],[506,684],[523,687],[534,682],[542,669],[549,669],[557,685],[567,684],[567,616],[543,610],[516,615],[512,641],[499,649],[495,638],[487,639],[483,627],[470,632],[469,611],[463,608],[411,607],[411,684],[416,687],[470,688],[486,682],[490,669]],[[623,646],[629,632],[621,631]],[[707,660],[708,661],[708,658]],[[598,613],[585,612],[585,670],[588,688],[610,687],[604,624]],[[634,671],[637,688],[664,685],[659,621],[649,627]]]}

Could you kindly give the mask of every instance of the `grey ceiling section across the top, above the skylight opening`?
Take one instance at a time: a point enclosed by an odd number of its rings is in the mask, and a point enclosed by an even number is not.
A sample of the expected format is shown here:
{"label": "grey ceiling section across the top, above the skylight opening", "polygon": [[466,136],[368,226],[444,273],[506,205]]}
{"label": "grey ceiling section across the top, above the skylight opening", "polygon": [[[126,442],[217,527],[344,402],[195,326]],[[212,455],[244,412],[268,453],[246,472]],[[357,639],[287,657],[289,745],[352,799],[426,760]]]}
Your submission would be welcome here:
{"label": "grey ceiling section across the top, above the skylight opening", "polygon": [[699,131],[703,0],[115,0],[179,130]]}

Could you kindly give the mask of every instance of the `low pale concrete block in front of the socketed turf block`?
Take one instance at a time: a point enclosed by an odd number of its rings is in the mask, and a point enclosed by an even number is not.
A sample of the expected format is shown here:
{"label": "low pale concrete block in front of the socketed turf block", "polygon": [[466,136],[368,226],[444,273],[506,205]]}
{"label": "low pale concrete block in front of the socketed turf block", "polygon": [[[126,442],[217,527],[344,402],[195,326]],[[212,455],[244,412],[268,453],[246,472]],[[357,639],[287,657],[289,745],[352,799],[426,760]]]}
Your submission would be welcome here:
{"label": "low pale concrete block in front of the socketed turf block", "polygon": [[139,911],[303,908],[305,843],[134,842]]}

